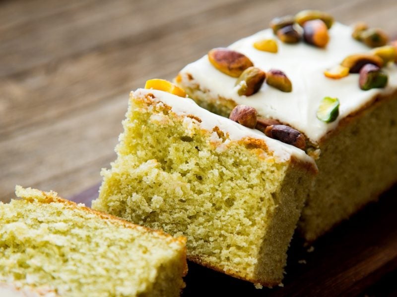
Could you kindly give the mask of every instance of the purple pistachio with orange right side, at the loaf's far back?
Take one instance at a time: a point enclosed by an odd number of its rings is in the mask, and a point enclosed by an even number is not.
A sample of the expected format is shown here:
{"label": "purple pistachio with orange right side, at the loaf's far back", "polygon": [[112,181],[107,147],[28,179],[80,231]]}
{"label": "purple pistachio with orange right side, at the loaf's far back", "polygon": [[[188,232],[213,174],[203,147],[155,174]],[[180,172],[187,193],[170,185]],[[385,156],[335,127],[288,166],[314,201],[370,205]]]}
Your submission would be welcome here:
{"label": "purple pistachio with orange right side, at the loaf's far back", "polygon": [[311,20],[303,24],[303,39],[306,43],[324,48],[330,40],[328,28],[322,20]]}

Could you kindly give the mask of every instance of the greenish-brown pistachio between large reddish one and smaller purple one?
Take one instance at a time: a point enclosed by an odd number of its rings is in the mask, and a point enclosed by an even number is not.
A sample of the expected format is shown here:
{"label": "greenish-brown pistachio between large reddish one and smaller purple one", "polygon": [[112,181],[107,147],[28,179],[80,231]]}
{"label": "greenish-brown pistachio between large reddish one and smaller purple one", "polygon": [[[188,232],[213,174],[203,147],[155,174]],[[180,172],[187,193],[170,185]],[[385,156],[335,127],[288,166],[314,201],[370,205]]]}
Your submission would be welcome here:
{"label": "greenish-brown pistachio between large reddish one and smaller purple one", "polygon": [[248,67],[236,81],[239,86],[237,93],[240,96],[251,96],[261,89],[266,74],[258,67]]}

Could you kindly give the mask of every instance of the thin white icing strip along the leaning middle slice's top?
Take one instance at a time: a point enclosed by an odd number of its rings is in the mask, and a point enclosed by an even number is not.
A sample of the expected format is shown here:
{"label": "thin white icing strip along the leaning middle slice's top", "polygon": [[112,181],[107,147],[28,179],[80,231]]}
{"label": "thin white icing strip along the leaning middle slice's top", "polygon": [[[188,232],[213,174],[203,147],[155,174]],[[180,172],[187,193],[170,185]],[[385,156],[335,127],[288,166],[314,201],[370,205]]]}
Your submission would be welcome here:
{"label": "thin white icing strip along the leaning middle slice's top", "polygon": [[[170,106],[172,108],[171,110],[176,114],[183,116],[197,116],[201,119],[201,123],[199,123],[199,125],[202,129],[212,131],[212,129],[217,126],[224,133],[228,133],[229,139],[232,141],[238,141],[245,137],[264,140],[267,148],[273,152],[273,156],[279,161],[287,161],[291,156],[295,156],[305,162],[313,164],[314,168],[317,168],[314,160],[303,150],[271,139],[259,130],[244,127],[228,118],[209,112],[197,105],[192,99],[181,98],[167,92],[152,89],[138,89],[132,93],[134,97],[138,98],[144,97],[147,94],[153,94],[155,96],[153,100],[163,102]],[[212,138],[214,138],[214,136],[211,136],[211,139]],[[215,141],[216,140],[214,139],[214,142]]]}

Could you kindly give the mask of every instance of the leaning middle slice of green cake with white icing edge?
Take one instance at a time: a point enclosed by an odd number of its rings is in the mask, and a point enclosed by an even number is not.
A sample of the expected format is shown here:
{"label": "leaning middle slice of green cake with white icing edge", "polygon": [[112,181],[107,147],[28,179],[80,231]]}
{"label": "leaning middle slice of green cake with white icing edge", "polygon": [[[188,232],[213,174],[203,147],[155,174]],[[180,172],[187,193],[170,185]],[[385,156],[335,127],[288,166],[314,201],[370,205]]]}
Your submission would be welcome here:
{"label": "leaning middle slice of green cake with white icing edge", "polygon": [[123,125],[118,157],[102,171],[92,207],[186,236],[188,258],[199,264],[279,284],[314,162],[298,148],[157,90],[131,94]]}

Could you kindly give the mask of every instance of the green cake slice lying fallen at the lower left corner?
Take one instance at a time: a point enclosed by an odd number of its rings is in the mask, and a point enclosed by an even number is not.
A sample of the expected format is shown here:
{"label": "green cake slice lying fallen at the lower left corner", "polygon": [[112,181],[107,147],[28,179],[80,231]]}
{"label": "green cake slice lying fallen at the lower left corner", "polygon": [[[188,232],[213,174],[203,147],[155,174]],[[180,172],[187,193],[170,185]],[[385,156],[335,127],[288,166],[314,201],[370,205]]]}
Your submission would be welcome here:
{"label": "green cake slice lying fallen at the lower left corner", "polygon": [[17,186],[16,195],[22,199],[0,203],[0,292],[179,296],[187,272],[185,238],[133,225],[55,192]]}

